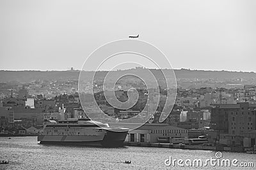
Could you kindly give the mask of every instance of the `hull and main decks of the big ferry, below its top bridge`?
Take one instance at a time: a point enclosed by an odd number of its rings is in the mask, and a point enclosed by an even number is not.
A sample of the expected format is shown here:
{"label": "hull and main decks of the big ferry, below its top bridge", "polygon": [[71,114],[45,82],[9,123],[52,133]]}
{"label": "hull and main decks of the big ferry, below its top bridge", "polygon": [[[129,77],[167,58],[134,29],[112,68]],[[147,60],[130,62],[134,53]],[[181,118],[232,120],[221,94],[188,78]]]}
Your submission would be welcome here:
{"label": "hull and main decks of the big ferry, below its top bridge", "polygon": [[[68,124],[69,125],[69,124]],[[64,125],[63,125],[64,126]],[[116,132],[118,131],[118,132]],[[38,135],[38,141],[42,144],[61,145],[88,145],[88,146],[122,146],[128,129],[113,129],[102,127],[47,127]]]}

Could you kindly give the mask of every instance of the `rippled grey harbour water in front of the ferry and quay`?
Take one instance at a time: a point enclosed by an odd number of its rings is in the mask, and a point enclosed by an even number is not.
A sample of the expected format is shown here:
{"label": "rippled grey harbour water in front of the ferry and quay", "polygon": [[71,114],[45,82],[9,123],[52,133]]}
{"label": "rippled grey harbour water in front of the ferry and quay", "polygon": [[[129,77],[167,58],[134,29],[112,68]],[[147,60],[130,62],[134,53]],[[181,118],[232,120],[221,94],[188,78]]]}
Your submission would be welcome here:
{"label": "rippled grey harbour water in front of the ferry and quay", "polygon": [[[97,148],[88,146],[40,145],[36,137],[0,137],[0,169],[255,169],[256,155],[222,152],[222,159],[253,162],[253,167],[179,167],[165,166],[164,160],[216,159],[215,152],[170,148]],[[131,160],[131,164],[124,164]]]}

